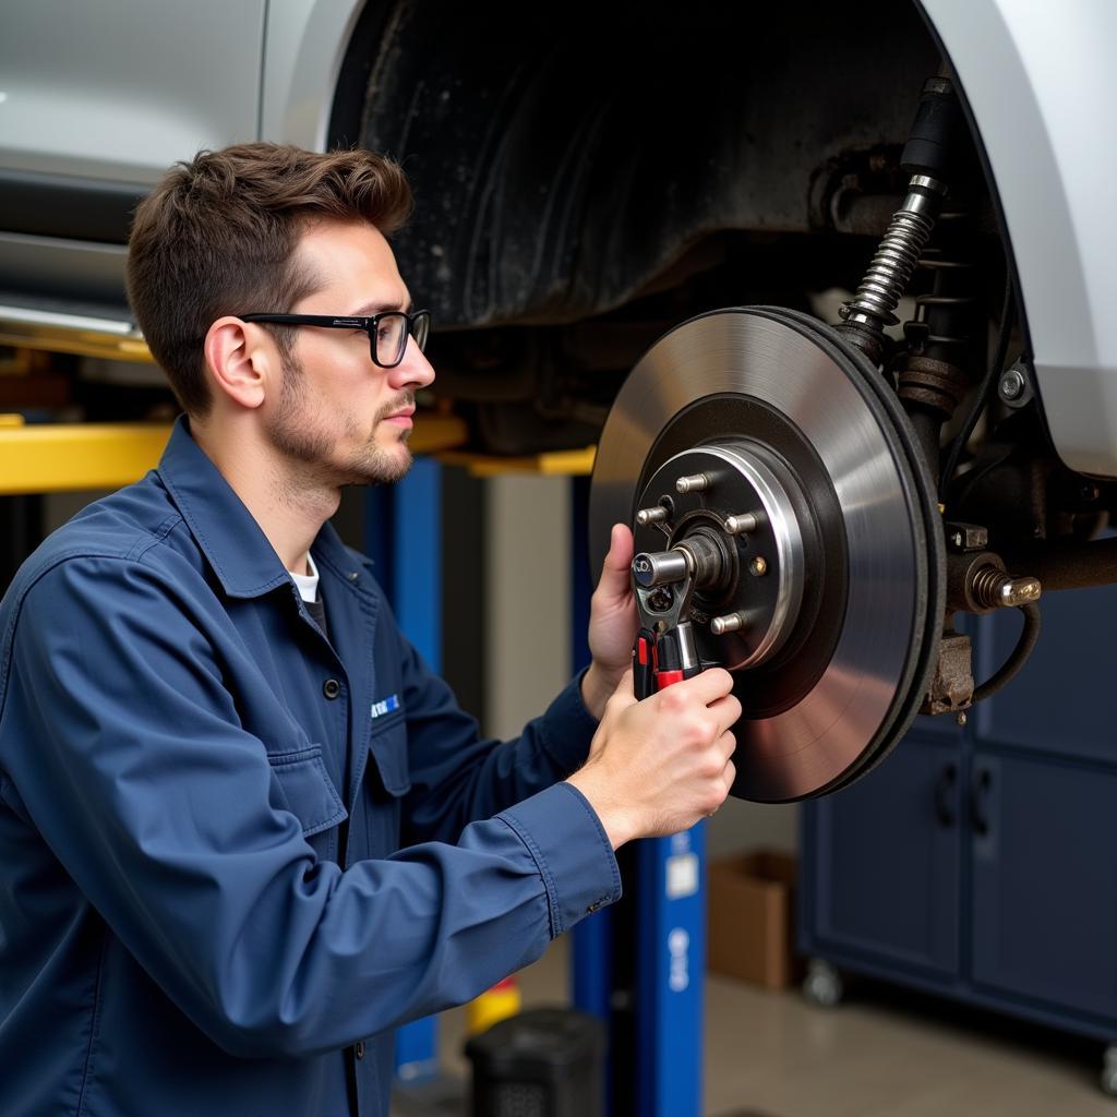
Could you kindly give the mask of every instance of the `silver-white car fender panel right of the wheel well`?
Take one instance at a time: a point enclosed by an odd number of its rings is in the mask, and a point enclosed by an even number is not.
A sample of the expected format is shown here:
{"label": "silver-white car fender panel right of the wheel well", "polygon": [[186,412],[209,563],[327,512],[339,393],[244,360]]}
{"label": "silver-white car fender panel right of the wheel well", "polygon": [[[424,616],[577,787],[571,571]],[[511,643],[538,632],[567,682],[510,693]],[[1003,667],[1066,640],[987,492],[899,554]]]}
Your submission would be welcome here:
{"label": "silver-white car fender panel right of the wheel well", "polygon": [[1117,477],[1117,4],[924,0],[989,156],[1051,439]]}

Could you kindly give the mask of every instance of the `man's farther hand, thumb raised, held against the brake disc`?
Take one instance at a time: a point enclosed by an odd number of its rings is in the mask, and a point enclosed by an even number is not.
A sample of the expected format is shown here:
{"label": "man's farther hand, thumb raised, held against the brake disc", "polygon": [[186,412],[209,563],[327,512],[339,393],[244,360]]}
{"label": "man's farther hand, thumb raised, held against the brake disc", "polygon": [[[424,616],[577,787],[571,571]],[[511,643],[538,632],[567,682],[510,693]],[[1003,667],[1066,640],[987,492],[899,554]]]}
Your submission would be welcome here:
{"label": "man's farther hand, thumb raised, held against the brake disc", "polygon": [[632,665],[639,618],[629,574],[631,565],[632,533],[623,524],[614,524],[601,579],[590,601],[589,642],[593,662],[582,679],[582,700],[599,720],[609,696]]}

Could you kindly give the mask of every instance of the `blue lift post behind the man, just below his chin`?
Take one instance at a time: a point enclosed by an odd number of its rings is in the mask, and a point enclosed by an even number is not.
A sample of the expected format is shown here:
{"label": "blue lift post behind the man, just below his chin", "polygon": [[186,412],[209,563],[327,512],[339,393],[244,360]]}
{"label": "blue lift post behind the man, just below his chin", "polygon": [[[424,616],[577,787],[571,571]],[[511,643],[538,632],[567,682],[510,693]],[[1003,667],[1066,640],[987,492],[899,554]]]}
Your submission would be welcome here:
{"label": "blue lift post behind the man, just below his chin", "polygon": [[[366,553],[400,628],[435,671],[442,659],[441,527],[442,475],[437,461],[417,458],[402,481],[369,490]],[[395,1073],[414,1082],[437,1071],[437,1019],[405,1024],[397,1033]]]}

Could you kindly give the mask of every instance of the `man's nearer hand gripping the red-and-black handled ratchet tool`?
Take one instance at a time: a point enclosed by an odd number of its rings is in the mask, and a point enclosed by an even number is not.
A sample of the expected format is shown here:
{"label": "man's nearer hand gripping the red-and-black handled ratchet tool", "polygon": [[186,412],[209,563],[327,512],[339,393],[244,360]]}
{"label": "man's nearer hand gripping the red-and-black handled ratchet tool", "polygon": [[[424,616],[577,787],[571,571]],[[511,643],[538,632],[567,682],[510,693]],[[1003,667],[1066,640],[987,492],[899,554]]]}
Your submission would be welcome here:
{"label": "man's nearer hand gripping the red-and-black handled ratchet tool", "polygon": [[643,701],[632,672],[605,706],[583,767],[569,780],[590,801],[613,849],[677,833],[725,802],[736,768],[732,726],[741,703],[719,667]]}

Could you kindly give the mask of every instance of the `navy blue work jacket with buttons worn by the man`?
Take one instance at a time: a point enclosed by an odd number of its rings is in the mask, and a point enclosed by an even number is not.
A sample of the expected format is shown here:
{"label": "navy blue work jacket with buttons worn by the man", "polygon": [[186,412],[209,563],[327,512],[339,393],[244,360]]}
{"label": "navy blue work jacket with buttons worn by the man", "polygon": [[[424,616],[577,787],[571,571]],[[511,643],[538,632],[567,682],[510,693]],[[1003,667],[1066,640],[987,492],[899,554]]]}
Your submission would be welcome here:
{"label": "navy blue work jacket with buttons worn by the man", "polygon": [[571,685],[477,726],[322,529],[323,636],[180,420],[0,607],[0,1114],[388,1111],[398,1024],[620,894]]}

